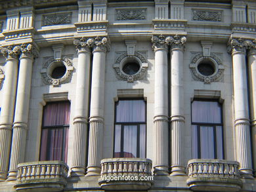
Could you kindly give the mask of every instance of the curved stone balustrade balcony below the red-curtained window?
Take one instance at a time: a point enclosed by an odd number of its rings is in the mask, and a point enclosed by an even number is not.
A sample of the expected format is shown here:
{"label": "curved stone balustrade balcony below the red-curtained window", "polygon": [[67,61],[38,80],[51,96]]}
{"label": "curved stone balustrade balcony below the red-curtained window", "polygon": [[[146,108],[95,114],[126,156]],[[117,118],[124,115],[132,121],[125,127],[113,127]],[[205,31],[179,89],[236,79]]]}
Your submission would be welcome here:
{"label": "curved stone balustrade balcony below the red-curtained window", "polygon": [[62,161],[36,161],[18,164],[16,191],[62,191],[68,166]]}

